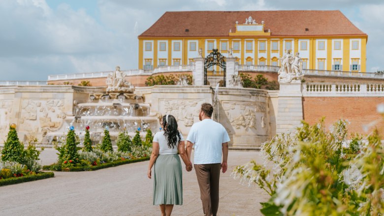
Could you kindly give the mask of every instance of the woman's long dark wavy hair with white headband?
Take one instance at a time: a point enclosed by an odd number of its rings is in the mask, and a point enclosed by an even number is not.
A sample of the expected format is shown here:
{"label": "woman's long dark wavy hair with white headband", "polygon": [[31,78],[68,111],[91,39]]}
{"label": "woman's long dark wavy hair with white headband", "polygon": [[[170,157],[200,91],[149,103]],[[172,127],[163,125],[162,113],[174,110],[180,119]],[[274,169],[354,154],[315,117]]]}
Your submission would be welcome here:
{"label": "woman's long dark wavy hair with white headband", "polygon": [[[177,130],[177,122],[173,115],[168,115],[168,122],[166,115],[162,116],[162,128],[164,129],[165,138],[168,141],[168,147],[175,148],[179,144],[181,137],[180,132]],[[177,139],[179,138],[179,139]]]}

